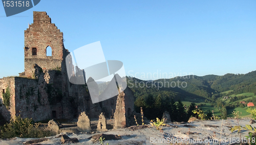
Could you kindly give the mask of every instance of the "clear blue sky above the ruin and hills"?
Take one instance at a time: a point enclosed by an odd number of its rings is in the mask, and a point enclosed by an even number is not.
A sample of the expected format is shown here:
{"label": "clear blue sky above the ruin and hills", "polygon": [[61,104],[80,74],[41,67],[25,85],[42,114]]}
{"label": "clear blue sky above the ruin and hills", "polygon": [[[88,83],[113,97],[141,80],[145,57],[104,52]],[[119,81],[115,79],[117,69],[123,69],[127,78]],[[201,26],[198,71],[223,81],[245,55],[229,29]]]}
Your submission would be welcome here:
{"label": "clear blue sky above the ruin and hills", "polygon": [[24,30],[33,11],[47,12],[70,52],[100,41],[105,59],[122,61],[127,76],[246,74],[256,70],[255,7],[256,1],[41,0],[6,17],[2,5],[0,78],[24,71]]}

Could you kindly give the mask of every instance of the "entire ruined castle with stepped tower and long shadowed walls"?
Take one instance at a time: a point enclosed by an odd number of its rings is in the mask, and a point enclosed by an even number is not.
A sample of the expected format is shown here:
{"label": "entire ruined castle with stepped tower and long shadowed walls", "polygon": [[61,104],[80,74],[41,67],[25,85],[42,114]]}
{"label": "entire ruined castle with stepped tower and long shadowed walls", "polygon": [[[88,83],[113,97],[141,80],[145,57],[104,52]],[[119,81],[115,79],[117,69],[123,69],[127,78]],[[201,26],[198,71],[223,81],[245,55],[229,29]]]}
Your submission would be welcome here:
{"label": "entire ruined castle with stepped tower and long shadowed walls", "polygon": [[[117,96],[92,104],[86,84],[70,83],[65,62],[69,51],[63,45],[63,33],[51,23],[46,12],[33,12],[33,15],[33,23],[24,32],[25,71],[19,77],[0,79],[2,115],[7,120],[20,115],[35,121],[77,118],[83,111],[90,118],[98,118],[101,112],[106,117],[113,116]],[[51,50],[51,54],[47,54],[47,50]],[[4,95],[7,91],[10,92],[9,96]],[[129,87],[125,91],[129,94],[125,99],[125,113],[132,115],[133,93]],[[126,125],[129,125],[129,119],[126,119]]]}

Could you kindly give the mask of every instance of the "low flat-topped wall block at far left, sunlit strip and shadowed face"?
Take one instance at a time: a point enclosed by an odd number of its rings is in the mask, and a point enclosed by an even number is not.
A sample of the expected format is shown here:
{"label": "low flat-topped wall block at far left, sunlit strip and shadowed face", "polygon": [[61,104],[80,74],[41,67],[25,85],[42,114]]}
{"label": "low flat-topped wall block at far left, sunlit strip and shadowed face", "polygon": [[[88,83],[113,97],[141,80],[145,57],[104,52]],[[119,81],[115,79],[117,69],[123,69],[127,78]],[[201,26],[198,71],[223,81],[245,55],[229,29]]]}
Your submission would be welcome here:
{"label": "low flat-topped wall block at far left, sunlit strip and shadowed face", "polygon": [[[10,106],[3,104],[3,89],[10,89]],[[1,113],[5,119],[20,115],[21,117],[43,120],[50,117],[50,105],[44,84],[36,79],[8,77],[0,80]]]}

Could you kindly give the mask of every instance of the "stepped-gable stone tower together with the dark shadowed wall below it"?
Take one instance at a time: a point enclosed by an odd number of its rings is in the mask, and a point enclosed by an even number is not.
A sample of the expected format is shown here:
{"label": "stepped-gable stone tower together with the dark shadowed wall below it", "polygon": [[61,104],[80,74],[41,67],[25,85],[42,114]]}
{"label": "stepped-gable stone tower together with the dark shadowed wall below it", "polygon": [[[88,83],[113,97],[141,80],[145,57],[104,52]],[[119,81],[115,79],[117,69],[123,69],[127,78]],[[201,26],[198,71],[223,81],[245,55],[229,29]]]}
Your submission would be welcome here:
{"label": "stepped-gable stone tower together with the dark shadowed wall below it", "polygon": [[[33,23],[24,32],[25,76],[34,77],[35,64],[44,71],[44,78],[41,78],[39,82],[43,85],[42,87],[48,88],[47,94],[43,95],[50,98],[49,116],[51,118],[78,116],[77,95],[85,93],[78,92],[79,88],[76,85],[70,87],[65,62],[69,52],[63,46],[63,33],[54,23],[51,23],[51,18],[46,12],[33,12],[33,15]],[[52,49],[52,56],[47,56],[48,46]]]}

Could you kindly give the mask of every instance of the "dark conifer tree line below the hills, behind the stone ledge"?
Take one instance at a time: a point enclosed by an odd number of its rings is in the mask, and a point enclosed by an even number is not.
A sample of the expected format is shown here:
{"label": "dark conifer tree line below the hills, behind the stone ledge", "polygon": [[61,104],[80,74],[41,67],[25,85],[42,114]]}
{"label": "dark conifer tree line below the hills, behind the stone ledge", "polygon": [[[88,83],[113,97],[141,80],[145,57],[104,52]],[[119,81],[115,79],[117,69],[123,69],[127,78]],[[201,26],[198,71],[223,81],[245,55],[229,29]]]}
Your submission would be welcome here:
{"label": "dark conifer tree line below the hills, behind the stone ledge", "polygon": [[[144,116],[147,119],[155,119],[156,117],[162,118],[163,113],[168,111],[172,122],[187,122],[189,117],[197,117],[192,111],[197,109],[195,103],[191,103],[185,108],[184,104],[174,98],[165,98],[161,94],[156,97],[152,94],[145,94],[138,97],[135,101],[135,110],[140,112],[140,107],[143,108]],[[212,112],[206,112],[208,117],[212,116]]]}

